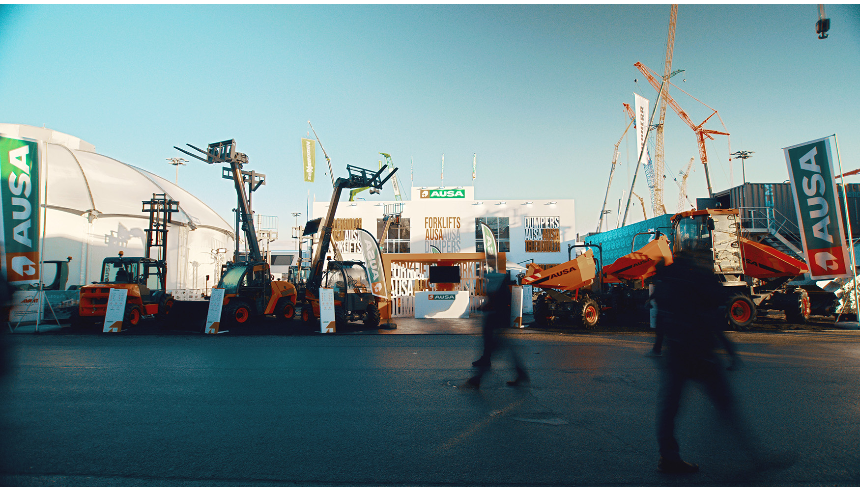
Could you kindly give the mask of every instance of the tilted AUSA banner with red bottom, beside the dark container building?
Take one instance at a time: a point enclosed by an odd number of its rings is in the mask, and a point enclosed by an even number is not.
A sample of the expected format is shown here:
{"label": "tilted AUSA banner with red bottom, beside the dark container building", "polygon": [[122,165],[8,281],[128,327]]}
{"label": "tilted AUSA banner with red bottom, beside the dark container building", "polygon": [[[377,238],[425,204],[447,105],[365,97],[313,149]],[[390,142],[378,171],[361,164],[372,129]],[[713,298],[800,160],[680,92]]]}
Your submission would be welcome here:
{"label": "tilted AUSA banner with red bottom, beside the dark container building", "polygon": [[809,276],[812,279],[851,276],[829,139],[783,150]]}

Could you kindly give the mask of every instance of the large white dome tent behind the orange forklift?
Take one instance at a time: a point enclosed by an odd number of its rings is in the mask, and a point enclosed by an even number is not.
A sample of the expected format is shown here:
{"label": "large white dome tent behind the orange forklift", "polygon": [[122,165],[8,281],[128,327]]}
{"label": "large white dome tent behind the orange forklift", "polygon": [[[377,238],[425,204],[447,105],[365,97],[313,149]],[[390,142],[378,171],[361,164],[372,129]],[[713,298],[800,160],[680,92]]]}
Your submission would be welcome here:
{"label": "large white dome tent behind the orange forklift", "polygon": [[154,193],[179,202],[168,225],[168,289],[202,289],[218,281],[226,261],[218,249],[231,249],[234,235],[200,199],[158,175],[95,153],[93,144],[71,135],[2,123],[0,135],[38,142],[45,218],[41,260],[72,256],[69,285],[98,279],[101,261],[120,250],[144,255],[149,213],[142,202]]}

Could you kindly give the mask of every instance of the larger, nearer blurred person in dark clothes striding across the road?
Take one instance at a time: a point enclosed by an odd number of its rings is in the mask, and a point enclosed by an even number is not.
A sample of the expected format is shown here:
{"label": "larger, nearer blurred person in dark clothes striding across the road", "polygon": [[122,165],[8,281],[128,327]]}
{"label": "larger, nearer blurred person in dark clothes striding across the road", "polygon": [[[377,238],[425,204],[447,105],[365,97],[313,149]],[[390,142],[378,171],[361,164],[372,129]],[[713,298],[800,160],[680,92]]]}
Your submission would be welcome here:
{"label": "larger, nearer blurred person in dark clothes striding across the road", "polygon": [[661,267],[654,282],[654,300],[659,307],[656,322],[666,342],[657,404],[661,472],[698,471],[697,464],[681,459],[675,439],[675,418],[690,380],[703,385],[737,443],[748,454],[755,454],[716,354],[718,347],[725,348],[731,359],[728,368],[737,365],[734,348],[722,333],[722,316],[718,312],[720,299],[725,297],[722,288],[708,265],[686,257],[675,257],[671,266]]}

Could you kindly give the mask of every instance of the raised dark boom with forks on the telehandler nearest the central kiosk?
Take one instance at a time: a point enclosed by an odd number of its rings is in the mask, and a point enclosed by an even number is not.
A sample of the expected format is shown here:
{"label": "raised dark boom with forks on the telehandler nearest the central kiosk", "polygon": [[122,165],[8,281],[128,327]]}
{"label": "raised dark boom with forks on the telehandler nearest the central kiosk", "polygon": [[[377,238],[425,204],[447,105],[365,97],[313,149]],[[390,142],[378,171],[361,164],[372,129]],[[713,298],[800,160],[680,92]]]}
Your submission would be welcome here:
{"label": "raised dark boom with forks on the telehandler nearest the central kiosk", "polygon": [[[329,252],[331,230],[335,224],[335,212],[337,212],[337,203],[341,199],[341,191],[343,191],[343,189],[354,189],[356,187],[373,187],[379,189],[383,187],[385,182],[388,181],[397,171],[397,169],[393,169],[384,179],[380,179],[380,175],[382,175],[383,171],[387,168],[388,166],[384,165],[381,169],[374,172],[369,169],[355,167],[354,165],[347,165],[349,177],[338,177],[337,181],[335,181],[335,190],[332,192],[331,201],[329,202],[329,212],[326,212],[325,220],[319,225],[320,242],[316,247],[316,253],[314,253],[313,260],[310,263],[310,275],[307,281],[307,288],[310,289],[310,291],[316,290],[316,288],[319,288],[322,284],[322,263],[325,261],[325,255]],[[308,224],[305,225],[305,235],[310,235],[316,232],[316,228],[313,224],[315,221],[316,220],[310,220]]]}

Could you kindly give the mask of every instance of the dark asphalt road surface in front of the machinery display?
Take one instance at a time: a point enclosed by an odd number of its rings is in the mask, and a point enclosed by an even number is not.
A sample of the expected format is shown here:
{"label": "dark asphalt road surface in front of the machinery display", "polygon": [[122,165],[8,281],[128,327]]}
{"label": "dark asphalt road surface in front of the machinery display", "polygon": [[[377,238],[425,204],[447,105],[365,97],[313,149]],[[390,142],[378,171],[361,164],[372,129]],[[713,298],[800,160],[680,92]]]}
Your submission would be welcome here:
{"label": "dark asphalt road surface in front of the machinery display", "polygon": [[860,485],[860,334],[736,334],[730,372],[766,451],[746,457],[698,390],[656,472],[658,360],[646,334],[519,333],[481,390],[480,336],[3,334],[8,486]]}

